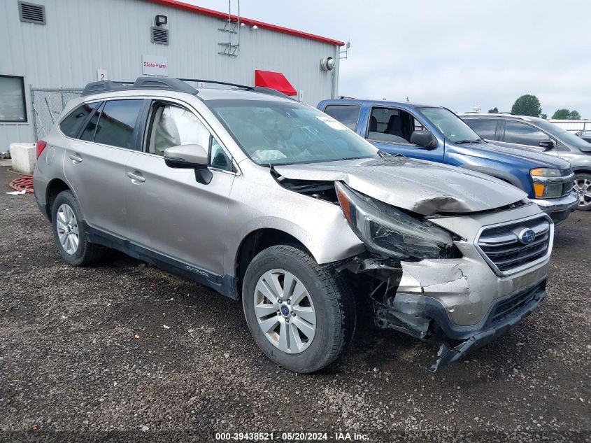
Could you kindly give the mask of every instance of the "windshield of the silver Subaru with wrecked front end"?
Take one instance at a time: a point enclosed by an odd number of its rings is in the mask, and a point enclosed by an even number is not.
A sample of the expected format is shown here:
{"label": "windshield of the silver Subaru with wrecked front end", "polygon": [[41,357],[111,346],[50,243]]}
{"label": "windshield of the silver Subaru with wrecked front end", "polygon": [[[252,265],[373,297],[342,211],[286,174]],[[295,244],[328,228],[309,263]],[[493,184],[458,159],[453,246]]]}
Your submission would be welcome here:
{"label": "windshield of the silver Subaru with wrecked front end", "polygon": [[348,127],[297,101],[209,100],[206,104],[257,164],[378,157],[378,150]]}

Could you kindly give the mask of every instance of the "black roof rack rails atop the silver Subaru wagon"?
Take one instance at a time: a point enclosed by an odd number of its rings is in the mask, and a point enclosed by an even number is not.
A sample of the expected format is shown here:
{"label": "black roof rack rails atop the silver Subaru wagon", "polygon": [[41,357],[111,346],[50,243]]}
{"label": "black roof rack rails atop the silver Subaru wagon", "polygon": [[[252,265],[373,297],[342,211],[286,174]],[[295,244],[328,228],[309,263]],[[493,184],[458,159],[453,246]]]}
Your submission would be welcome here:
{"label": "black roof rack rails atop the silver Subaru wagon", "polygon": [[289,95],[283,94],[283,92],[279,92],[277,90],[271,89],[269,87],[262,87],[262,86],[246,86],[246,85],[238,85],[237,83],[228,83],[218,80],[201,80],[198,78],[169,78],[169,77],[138,77],[134,82],[126,82],[126,81],[113,81],[113,80],[104,80],[104,81],[94,81],[88,83],[80,97],[84,97],[86,95],[92,94],[100,94],[101,92],[110,92],[110,91],[121,91],[121,90],[169,90],[169,91],[176,91],[176,92],[186,92],[187,94],[197,94],[199,91],[189,85],[186,82],[201,82],[201,83],[213,83],[214,85],[227,85],[227,86],[234,86],[240,87],[245,90],[253,91],[253,92],[260,92],[261,94],[268,94],[274,95],[276,97],[283,97],[285,99],[294,100]]}

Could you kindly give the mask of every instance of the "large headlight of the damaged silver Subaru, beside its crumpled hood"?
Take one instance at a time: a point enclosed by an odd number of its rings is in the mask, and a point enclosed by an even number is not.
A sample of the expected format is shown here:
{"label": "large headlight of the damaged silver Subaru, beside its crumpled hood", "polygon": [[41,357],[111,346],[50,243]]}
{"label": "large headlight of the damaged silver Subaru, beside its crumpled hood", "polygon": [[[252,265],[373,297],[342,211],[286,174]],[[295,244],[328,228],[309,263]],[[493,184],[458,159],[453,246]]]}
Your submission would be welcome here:
{"label": "large headlight of the damaged silver Subaru, beside its crumpled hood", "polygon": [[401,260],[460,257],[451,235],[427,220],[335,183],[341,209],[357,237],[373,252]]}

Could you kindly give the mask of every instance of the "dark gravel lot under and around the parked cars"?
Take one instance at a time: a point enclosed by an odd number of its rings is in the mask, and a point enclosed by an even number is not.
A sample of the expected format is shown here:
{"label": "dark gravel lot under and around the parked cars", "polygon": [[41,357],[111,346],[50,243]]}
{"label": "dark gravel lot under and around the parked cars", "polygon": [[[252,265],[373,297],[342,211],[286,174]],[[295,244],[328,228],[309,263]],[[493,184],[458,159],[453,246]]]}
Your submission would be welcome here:
{"label": "dark gravel lot under and around the parked cars", "polygon": [[436,349],[362,318],[349,351],[304,376],[208,288],[118,253],[64,265],[34,198],[6,195],[12,178],[0,168],[0,440],[591,441],[591,213],[557,230],[540,309],[485,349],[433,374]]}

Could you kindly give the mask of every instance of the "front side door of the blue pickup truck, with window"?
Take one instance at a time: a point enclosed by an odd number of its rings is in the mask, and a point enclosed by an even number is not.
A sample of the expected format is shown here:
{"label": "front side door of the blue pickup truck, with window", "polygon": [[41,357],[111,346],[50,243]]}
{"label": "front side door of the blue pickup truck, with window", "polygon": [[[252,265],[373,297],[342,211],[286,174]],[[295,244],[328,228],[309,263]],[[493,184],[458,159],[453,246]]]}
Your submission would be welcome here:
{"label": "front side door of the blue pickup truck, with window", "polygon": [[376,148],[389,154],[443,162],[441,143],[434,149],[425,149],[410,142],[415,130],[425,130],[422,121],[403,109],[372,106],[365,138]]}

